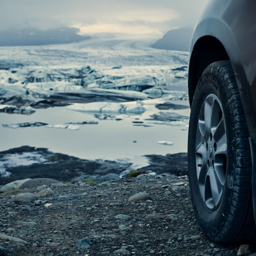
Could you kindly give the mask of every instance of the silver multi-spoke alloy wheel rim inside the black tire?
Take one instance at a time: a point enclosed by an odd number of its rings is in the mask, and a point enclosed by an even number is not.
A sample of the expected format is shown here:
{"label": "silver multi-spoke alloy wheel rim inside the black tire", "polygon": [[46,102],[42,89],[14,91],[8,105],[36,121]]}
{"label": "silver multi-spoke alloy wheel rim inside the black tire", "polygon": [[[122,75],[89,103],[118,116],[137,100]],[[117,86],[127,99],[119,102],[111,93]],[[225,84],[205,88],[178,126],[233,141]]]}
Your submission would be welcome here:
{"label": "silver multi-spoke alloy wheel rim inside the black tire", "polygon": [[219,206],[226,181],[227,129],[222,104],[209,94],[202,104],[196,131],[196,172],[201,197],[210,210]]}

